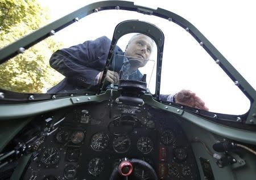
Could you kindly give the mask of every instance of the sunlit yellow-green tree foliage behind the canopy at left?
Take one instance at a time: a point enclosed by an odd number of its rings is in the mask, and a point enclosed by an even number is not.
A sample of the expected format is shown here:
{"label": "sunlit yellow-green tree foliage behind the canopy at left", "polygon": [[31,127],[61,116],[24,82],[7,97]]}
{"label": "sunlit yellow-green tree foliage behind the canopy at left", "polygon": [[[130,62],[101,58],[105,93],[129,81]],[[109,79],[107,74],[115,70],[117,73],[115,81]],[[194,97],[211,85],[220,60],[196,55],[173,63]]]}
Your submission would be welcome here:
{"label": "sunlit yellow-green tree foliage behind the canopy at left", "polygon": [[[47,23],[47,11],[35,0],[0,0],[0,4],[0,48]],[[0,88],[40,93],[52,87],[63,76],[49,67],[48,59],[60,46],[49,37],[0,65]]]}

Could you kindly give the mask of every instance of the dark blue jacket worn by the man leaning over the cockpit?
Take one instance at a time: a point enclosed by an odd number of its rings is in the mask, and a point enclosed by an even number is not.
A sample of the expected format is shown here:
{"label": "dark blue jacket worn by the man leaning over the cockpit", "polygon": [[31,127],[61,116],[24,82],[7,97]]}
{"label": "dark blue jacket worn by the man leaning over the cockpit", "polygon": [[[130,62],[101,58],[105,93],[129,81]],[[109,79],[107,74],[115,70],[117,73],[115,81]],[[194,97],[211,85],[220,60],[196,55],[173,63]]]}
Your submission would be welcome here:
{"label": "dark blue jacket worn by the man leaning over the cockpit", "polygon": [[[95,91],[98,88],[96,76],[104,70],[108,57],[111,40],[102,36],[94,41],[57,50],[49,59],[49,64],[65,78],[48,93],[75,93],[81,89]],[[123,55],[122,50],[115,46],[114,55]],[[117,63],[121,63],[120,65]],[[115,61],[109,69],[119,71],[122,61]],[[116,67],[119,69],[117,70]],[[140,76],[142,76],[140,74]],[[166,100],[168,95],[160,95],[160,100]]]}

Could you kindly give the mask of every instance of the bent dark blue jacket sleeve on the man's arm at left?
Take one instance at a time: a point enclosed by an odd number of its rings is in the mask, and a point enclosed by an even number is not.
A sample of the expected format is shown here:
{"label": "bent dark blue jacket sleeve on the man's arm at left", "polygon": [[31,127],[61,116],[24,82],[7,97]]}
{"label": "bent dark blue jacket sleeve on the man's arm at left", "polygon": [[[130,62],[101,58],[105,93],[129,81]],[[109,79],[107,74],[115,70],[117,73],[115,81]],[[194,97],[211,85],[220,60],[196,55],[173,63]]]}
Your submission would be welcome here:
{"label": "bent dark blue jacket sleeve on the man's arm at left", "polygon": [[95,86],[96,76],[104,70],[111,41],[102,36],[94,41],[57,50],[49,64],[68,79],[84,87]]}

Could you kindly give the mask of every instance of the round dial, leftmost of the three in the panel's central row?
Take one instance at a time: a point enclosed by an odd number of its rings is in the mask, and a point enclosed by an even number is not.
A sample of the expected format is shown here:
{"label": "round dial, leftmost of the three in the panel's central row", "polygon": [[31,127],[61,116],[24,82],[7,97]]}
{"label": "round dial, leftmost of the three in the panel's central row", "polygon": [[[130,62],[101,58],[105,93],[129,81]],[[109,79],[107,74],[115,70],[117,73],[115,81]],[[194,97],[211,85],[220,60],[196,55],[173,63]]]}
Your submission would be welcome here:
{"label": "round dial, leftmost of the three in the panel's central row", "polygon": [[90,146],[95,151],[103,151],[108,146],[109,137],[105,133],[97,133],[92,136]]}

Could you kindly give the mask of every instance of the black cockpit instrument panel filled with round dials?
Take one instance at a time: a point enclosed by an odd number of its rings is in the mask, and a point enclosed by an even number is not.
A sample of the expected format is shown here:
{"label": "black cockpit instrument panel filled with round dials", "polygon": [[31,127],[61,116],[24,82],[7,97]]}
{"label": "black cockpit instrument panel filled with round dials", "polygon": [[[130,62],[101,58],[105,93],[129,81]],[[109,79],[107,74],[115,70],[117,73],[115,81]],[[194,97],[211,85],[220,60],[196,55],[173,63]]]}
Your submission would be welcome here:
{"label": "black cockpit instrument panel filled with round dials", "polygon": [[[170,114],[146,105],[136,115],[119,109],[108,103],[71,109],[33,153],[21,179],[108,179],[124,158],[148,162],[159,179],[199,179],[190,144]],[[149,178],[139,166],[131,175]]]}

